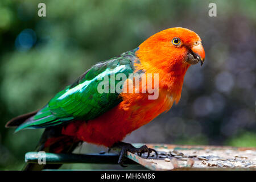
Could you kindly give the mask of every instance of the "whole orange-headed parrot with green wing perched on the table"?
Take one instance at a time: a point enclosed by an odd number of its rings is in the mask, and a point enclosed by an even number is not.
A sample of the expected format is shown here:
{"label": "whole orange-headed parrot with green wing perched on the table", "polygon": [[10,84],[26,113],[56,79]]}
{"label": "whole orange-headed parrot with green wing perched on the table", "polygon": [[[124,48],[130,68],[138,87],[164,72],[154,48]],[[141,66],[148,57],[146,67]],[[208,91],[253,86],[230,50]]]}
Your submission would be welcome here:
{"label": "whole orange-headed parrot with green wing perched on the table", "polygon": [[[44,129],[36,151],[71,154],[82,142],[119,149],[117,164],[123,166],[126,152],[138,155],[157,152],[146,145],[136,148],[122,142],[127,134],[166,113],[181,97],[184,76],[190,65],[203,65],[205,52],[202,40],[194,31],[174,27],[157,32],[144,40],[137,48],[112,59],[101,61],[83,73],[73,84],[66,86],[41,109],[19,115],[6,123],[15,132],[24,129]],[[136,74],[139,87],[134,86],[129,74]],[[111,77],[121,82],[121,92],[109,92],[113,87],[103,85],[102,79]],[[152,78],[149,76],[154,74]],[[152,96],[143,78],[154,81]],[[113,80],[113,79],[112,79]],[[158,81],[158,82],[157,82]],[[155,84],[156,82],[156,84]],[[111,83],[110,83],[111,84]],[[112,90],[113,91],[113,90]],[[61,164],[28,163],[23,170],[57,169]]]}

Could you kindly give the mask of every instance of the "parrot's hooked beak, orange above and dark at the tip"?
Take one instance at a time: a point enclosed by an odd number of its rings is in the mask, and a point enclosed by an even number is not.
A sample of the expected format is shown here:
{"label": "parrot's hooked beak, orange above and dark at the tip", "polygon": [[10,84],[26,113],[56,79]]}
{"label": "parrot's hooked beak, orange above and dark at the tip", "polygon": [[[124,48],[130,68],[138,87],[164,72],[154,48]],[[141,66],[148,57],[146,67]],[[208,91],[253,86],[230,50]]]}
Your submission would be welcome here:
{"label": "parrot's hooked beak, orange above and dark at the tip", "polygon": [[193,46],[191,48],[191,51],[189,51],[187,54],[186,62],[188,64],[197,64],[199,62],[201,63],[201,65],[204,64],[204,48],[202,44]]}

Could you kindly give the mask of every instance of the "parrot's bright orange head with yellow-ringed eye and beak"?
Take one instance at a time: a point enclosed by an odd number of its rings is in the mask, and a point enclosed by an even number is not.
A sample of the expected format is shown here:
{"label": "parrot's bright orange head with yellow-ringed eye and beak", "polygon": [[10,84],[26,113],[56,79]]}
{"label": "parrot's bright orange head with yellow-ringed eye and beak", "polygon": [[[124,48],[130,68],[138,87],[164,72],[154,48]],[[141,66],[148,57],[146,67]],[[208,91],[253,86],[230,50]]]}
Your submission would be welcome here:
{"label": "parrot's bright orange head with yellow-ringed eye and beak", "polygon": [[145,69],[154,68],[168,73],[177,71],[179,67],[203,64],[204,48],[195,32],[187,28],[168,28],[145,40],[139,46],[137,56]]}

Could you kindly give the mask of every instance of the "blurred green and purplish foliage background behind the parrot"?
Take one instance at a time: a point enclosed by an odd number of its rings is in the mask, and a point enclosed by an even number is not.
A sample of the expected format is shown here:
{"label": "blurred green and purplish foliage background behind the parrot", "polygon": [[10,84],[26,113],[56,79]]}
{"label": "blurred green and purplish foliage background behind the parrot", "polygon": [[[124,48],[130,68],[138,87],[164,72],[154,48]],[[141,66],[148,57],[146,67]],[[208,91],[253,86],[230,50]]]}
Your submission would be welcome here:
{"label": "blurred green and purplish foliage background behind the parrot", "polygon": [[[38,16],[40,2],[46,17]],[[208,16],[210,2],[1,0],[0,169],[20,169],[42,133],[13,134],[4,127],[9,119],[44,106],[94,63],[170,27],[200,35],[205,64],[189,68],[178,105],[125,140],[255,146],[256,1],[214,1],[217,17]]]}

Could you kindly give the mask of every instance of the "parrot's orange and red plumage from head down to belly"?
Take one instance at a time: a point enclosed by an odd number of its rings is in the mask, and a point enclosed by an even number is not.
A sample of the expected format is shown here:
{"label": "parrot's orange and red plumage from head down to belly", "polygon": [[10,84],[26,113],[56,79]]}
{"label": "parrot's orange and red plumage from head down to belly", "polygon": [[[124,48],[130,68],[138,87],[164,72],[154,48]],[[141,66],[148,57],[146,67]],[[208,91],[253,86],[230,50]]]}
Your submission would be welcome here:
{"label": "parrot's orange and red plumage from head down to belly", "polygon": [[[179,39],[179,44],[175,44],[175,38]],[[188,53],[194,57],[188,59]],[[139,63],[135,64],[135,69],[159,75],[158,88],[154,88],[159,91],[159,97],[148,100],[149,93],[123,92],[118,106],[96,119],[69,123],[63,128],[64,135],[107,147],[121,141],[127,134],[168,111],[174,102],[179,102],[185,72],[199,61],[195,56],[199,56],[201,62],[205,56],[200,37],[186,28],[169,28],[152,35],[139,46],[136,55]],[[142,89],[143,86],[140,91]]]}

